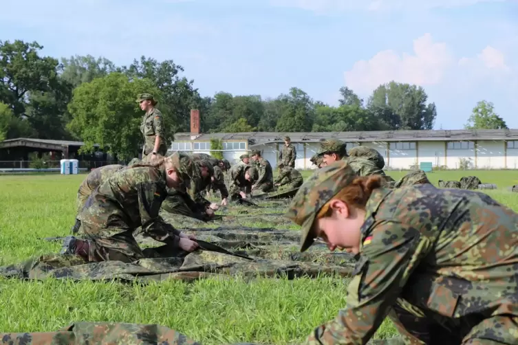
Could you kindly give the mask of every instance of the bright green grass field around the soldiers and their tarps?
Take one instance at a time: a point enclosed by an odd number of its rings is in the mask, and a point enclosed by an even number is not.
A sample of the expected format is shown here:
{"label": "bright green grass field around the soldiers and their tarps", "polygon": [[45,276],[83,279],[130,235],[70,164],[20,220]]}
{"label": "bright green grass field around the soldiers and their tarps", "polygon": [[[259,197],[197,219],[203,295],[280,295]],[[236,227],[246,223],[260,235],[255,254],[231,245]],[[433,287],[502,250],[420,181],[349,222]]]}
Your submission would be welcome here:
{"label": "bright green grass field around the soldiers and their tarps", "polygon": [[[305,177],[309,172],[304,172]],[[404,172],[389,172],[394,179]],[[488,194],[518,211],[518,172],[438,171],[429,179],[475,175],[496,183]],[[0,175],[0,265],[58,252],[74,222],[76,190],[85,175]],[[257,226],[257,225],[256,225]],[[0,331],[54,331],[78,321],[157,323],[203,344],[299,343],[345,305],[347,280],[337,278],[118,282],[24,282],[0,278]],[[395,331],[385,321],[376,337]]]}

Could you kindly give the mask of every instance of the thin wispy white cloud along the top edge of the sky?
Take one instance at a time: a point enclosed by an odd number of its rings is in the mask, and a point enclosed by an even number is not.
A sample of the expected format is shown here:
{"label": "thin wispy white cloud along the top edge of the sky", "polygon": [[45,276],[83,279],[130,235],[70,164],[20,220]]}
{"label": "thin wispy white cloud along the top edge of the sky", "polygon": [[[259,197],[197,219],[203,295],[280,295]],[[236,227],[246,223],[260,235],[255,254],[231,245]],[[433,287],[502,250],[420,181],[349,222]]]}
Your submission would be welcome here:
{"label": "thin wispy white cloud along the top edge of the sky", "polygon": [[277,7],[300,8],[323,14],[347,10],[429,10],[505,1],[512,0],[270,0],[270,4]]}

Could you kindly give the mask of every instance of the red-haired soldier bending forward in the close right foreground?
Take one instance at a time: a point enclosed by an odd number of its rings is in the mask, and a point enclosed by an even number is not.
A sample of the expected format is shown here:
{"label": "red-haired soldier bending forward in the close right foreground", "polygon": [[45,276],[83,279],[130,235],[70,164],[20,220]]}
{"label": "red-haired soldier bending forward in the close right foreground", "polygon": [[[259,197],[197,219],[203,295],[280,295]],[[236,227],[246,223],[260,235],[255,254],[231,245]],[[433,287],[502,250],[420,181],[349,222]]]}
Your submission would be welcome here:
{"label": "red-haired soldier bending forward in the close right foreground", "polygon": [[387,315],[398,344],[517,344],[518,214],[481,192],[383,183],[341,161],[292,200],[301,252],[320,238],[357,259],[345,308],[305,344],[367,344]]}

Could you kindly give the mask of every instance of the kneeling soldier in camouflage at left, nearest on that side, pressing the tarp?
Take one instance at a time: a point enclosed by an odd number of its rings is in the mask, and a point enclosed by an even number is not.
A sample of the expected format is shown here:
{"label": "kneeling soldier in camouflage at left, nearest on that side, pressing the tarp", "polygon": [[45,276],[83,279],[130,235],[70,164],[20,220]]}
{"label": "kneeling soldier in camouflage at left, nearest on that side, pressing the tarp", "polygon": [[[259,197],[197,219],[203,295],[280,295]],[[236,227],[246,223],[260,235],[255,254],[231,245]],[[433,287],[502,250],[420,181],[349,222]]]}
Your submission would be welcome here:
{"label": "kneeling soldier in camouflage at left, nearest on that side, pressing the tarp", "polygon": [[[68,236],[61,253],[76,254],[87,262],[131,263],[159,253],[175,256],[182,251],[192,252],[197,248],[193,236],[175,230],[158,212],[166,199],[166,188],[180,188],[197,175],[199,172],[191,159],[178,153],[155,164],[137,164],[116,172],[91,194],[78,215],[81,222],[78,232],[85,239]],[[133,237],[138,227],[165,245],[150,249],[150,255],[144,254]]]}

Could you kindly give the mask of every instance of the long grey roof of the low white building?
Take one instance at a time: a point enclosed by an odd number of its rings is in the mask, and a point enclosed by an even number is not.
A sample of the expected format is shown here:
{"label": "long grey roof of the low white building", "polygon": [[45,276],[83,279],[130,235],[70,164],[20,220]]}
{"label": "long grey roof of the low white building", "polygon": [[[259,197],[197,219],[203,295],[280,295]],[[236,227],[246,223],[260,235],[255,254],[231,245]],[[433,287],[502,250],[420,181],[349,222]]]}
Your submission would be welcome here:
{"label": "long grey roof of the low white building", "polygon": [[401,141],[456,141],[456,140],[518,140],[518,129],[455,129],[431,131],[361,131],[361,132],[244,132],[244,133],[175,133],[175,142],[208,141],[218,139],[248,140],[250,144],[266,144],[268,142],[283,142],[288,135],[292,142],[320,142],[336,138],[344,142],[401,142]]}

